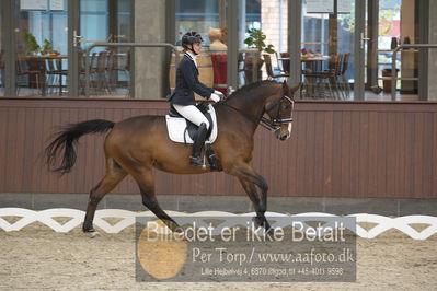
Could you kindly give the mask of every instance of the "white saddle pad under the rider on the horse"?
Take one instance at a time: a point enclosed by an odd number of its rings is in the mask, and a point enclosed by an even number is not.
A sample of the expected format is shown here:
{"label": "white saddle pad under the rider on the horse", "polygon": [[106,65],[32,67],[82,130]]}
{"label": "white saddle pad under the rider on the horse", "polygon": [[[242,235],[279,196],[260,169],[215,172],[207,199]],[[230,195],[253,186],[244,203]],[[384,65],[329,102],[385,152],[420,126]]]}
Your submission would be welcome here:
{"label": "white saddle pad under the rider on the horse", "polygon": [[[206,141],[208,143],[212,143],[217,139],[217,118],[216,118],[216,110],[214,109],[212,105],[209,106],[209,113],[211,115],[212,119],[212,132],[209,139]],[[169,131],[169,138],[174,141],[174,142],[186,142],[186,143],[194,143],[192,138],[188,135],[188,131],[185,131],[186,128],[186,119],[181,118],[181,117],[170,117],[169,115],[165,115],[165,120],[166,120],[166,130]],[[184,139],[184,133],[185,133],[185,139]]]}

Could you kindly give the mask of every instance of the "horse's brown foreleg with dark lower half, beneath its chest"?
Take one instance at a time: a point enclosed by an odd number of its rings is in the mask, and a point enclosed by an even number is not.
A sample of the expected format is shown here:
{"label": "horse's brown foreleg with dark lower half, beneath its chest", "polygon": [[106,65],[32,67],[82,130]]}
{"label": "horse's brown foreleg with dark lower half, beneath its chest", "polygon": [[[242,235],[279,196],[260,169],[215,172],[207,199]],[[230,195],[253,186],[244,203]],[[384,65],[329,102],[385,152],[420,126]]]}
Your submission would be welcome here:
{"label": "horse's brown foreleg with dark lower half, beneath its chest", "polygon": [[[265,218],[265,212],[267,211],[268,191],[268,185],[265,179],[260,174],[257,174],[249,164],[241,164],[239,166],[235,166],[230,174],[239,178],[241,185],[243,186],[243,189],[245,190],[253,203],[256,212],[256,217],[253,218],[255,226],[264,226],[267,233],[271,233],[271,224]],[[256,190],[255,186],[260,188],[261,193]]]}

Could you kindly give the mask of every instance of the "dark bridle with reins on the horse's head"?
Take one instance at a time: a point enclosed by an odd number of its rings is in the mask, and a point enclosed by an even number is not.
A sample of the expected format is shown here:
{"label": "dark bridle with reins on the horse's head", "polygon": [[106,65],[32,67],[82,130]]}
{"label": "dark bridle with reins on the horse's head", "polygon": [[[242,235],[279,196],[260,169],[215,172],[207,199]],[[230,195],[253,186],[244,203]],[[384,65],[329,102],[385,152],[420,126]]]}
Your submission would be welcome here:
{"label": "dark bridle with reins on the horse's head", "polygon": [[[291,105],[291,112],[290,112],[290,117],[289,118],[280,118],[280,104],[283,103],[284,100],[289,102],[290,105]],[[245,112],[243,112],[243,110],[241,110],[239,108],[235,108],[235,107],[233,107],[233,106],[231,106],[229,104],[226,104],[226,103],[220,103],[220,104],[222,104],[222,105],[225,105],[225,106],[227,106],[229,108],[234,109],[235,112],[240,113],[241,115],[243,115],[248,119],[252,119],[252,120],[256,120],[256,121],[258,120],[258,117],[253,116],[251,114],[248,114],[248,113],[245,113]],[[266,118],[266,117],[262,116],[261,120],[260,120],[260,125],[262,127],[271,130],[272,132],[278,131],[280,129],[281,125],[285,125],[285,124],[291,125],[291,123],[292,123],[292,112],[295,109],[295,102],[290,97],[286,96],[284,93],[280,96],[280,98],[272,102],[268,105],[268,107],[265,108],[265,112],[269,112],[276,105],[278,106],[277,112],[276,112],[276,118],[269,119],[269,118]],[[290,133],[291,133],[291,129],[290,129]]]}

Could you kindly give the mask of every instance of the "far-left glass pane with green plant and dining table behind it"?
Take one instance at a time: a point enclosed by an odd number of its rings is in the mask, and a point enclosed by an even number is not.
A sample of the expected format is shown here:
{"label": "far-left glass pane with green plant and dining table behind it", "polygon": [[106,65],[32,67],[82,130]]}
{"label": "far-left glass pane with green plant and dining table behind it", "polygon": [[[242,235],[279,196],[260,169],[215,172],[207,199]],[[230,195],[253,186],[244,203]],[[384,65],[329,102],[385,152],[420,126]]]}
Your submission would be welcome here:
{"label": "far-left glass pane with green plant and dining table behind it", "polygon": [[67,0],[13,1],[15,95],[67,93]]}

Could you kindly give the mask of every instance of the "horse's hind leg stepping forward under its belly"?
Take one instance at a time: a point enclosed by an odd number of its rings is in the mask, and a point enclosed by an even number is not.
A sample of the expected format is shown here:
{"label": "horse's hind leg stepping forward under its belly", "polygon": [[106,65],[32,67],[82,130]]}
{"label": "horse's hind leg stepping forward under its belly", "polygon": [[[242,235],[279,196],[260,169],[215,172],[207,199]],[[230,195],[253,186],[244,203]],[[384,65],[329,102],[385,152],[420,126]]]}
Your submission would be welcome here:
{"label": "horse's hind leg stepping forward under its belly", "polygon": [[142,203],[152,211],[165,225],[174,231],[177,231],[177,223],[169,217],[164,210],[159,206],[157,196],[154,195],[154,183],[151,168],[146,168],[138,174],[133,175],[138,183]]}

